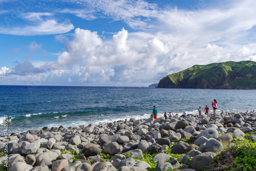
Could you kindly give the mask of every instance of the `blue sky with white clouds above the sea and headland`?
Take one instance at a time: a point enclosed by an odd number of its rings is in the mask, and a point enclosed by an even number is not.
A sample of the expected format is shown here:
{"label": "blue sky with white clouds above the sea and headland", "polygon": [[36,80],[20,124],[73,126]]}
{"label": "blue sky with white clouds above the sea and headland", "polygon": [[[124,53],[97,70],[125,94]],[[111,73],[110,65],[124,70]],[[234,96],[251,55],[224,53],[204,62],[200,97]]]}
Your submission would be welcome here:
{"label": "blue sky with white clouds above the sea and headland", "polygon": [[256,1],[0,0],[0,85],[147,87],[256,61]]}

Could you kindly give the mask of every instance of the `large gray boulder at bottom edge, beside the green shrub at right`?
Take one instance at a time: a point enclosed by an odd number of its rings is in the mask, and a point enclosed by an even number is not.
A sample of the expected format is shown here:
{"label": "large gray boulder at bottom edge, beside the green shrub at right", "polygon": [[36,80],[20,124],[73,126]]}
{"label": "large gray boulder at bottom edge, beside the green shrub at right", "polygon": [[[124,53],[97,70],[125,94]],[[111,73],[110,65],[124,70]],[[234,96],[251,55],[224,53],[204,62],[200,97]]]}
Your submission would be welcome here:
{"label": "large gray boulder at bottom edge, beside the green shrub at right", "polygon": [[197,155],[190,161],[189,166],[195,170],[207,169],[209,165],[213,164],[214,157],[210,152]]}

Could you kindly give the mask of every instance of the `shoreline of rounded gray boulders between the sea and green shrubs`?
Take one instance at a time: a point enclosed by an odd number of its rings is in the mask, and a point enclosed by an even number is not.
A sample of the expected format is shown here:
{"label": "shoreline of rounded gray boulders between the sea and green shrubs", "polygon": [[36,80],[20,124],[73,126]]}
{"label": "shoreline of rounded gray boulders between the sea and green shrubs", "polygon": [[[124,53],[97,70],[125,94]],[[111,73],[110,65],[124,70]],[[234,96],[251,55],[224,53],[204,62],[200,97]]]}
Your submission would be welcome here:
{"label": "shoreline of rounded gray boulders between the sea and green shrubs", "polygon": [[[221,113],[216,117],[176,115],[79,127],[44,127],[18,135],[0,135],[0,170],[6,166],[10,171],[148,170],[151,165],[143,161],[147,152],[156,154],[152,161],[159,171],[169,167],[206,169],[216,153],[223,151],[224,142],[243,139],[246,133],[251,134],[250,141],[255,141],[255,130],[254,111]],[[179,161],[166,154],[168,150],[180,155]],[[102,154],[113,157],[106,160]]]}

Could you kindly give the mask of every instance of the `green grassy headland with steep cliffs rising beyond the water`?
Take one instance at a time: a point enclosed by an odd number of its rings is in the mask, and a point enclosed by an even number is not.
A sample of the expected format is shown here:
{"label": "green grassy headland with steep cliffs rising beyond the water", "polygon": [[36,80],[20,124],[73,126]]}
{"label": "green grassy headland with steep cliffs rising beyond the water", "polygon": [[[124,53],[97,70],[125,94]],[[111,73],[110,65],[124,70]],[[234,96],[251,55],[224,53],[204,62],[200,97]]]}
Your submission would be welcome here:
{"label": "green grassy headland with steep cliffs rising beyond the water", "polygon": [[195,65],[163,77],[157,88],[256,89],[256,62],[221,62]]}

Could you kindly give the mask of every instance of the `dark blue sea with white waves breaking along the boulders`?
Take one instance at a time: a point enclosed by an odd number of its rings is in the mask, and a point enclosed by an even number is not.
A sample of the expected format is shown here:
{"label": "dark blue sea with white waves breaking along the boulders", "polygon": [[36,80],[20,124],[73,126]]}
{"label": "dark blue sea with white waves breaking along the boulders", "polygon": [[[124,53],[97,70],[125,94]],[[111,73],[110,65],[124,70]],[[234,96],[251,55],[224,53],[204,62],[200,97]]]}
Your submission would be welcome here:
{"label": "dark blue sea with white waves breaking along the boulders", "polygon": [[[256,110],[256,90],[156,89],[134,87],[0,86],[0,134],[44,126],[64,127],[148,118],[156,105],[164,112],[197,115],[217,99],[217,111]],[[210,111],[210,112],[211,112]]]}

